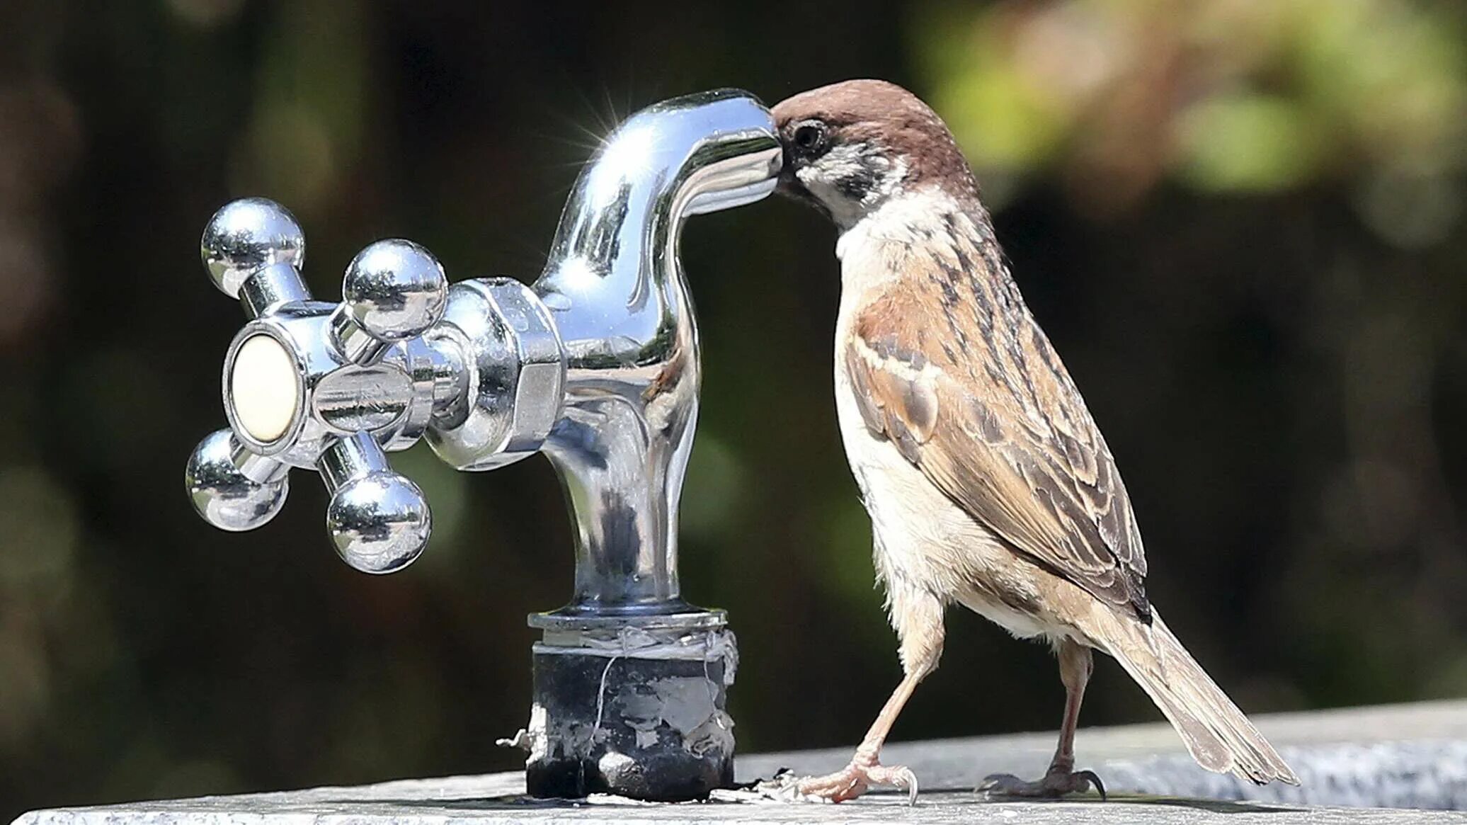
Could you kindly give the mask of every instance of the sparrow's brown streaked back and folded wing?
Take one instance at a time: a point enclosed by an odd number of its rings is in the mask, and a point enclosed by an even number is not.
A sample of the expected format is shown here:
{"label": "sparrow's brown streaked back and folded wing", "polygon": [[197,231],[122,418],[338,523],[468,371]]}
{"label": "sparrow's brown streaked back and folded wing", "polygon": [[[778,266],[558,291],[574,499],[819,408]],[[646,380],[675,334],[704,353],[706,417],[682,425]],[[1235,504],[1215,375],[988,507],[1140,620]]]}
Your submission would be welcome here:
{"label": "sparrow's brown streaked back and folded wing", "polygon": [[907,276],[851,319],[844,354],[867,429],[1020,552],[1149,619],[1115,459],[996,250],[882,264]]}

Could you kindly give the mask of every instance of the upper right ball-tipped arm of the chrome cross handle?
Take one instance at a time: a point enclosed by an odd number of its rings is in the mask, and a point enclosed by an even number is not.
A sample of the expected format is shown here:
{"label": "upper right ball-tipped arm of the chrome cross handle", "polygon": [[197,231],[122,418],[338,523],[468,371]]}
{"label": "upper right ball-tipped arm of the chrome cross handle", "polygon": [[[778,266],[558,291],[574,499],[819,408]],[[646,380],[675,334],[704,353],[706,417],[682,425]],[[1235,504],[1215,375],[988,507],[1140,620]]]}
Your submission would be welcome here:
{"label": "upper right ball-tipped arm of the chrome cross handle", "polygon": [[433,252],[412,241],[377,241],[346,267],[332,344],[348,361],[370,366],[393,344],[439,323],[447,294],[447,276]]}

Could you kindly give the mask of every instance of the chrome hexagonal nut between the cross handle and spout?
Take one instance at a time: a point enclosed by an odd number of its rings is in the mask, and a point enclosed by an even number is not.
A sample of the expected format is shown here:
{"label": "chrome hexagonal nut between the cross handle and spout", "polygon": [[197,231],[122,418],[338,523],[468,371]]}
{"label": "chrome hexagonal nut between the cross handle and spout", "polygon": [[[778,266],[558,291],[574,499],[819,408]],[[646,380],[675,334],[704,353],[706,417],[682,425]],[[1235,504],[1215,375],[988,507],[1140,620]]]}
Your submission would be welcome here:
{"label": "chrome hexagonal nut between the cross handle and spout", "polygon": [[538,452],[565,401],[565,354],[540,297],[512,277],[455,283],[425,338],[456,346],[468,374],[461,404],[425,433],[439,458],[493,470]]}

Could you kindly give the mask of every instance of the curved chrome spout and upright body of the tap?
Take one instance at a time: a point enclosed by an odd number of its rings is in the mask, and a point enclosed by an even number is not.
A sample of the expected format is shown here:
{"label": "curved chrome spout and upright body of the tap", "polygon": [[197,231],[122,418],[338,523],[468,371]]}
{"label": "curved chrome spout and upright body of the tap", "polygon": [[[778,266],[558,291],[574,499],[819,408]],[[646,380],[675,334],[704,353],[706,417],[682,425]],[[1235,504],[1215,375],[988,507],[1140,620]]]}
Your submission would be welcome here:
{"label": "curved chrome spout and upright body of the tap", "polygon": [[534,291],[565,352],[544,449],[577,537],[562,614],[679,612],[676,520],[698,410],[698,335],[678,260],[688,214],[767,197],[769,110],[735,90],[679,97],[616,129],[581,173]]}

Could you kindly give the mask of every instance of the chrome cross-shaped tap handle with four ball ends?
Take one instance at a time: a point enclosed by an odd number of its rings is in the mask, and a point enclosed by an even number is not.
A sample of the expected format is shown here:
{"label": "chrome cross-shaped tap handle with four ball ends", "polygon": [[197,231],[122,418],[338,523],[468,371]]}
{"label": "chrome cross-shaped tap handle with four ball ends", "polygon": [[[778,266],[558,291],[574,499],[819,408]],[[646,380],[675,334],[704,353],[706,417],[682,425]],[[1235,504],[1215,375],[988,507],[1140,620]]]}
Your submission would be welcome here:
{"label": "chrome cross-shaped tap handle with four ball ends", "polygon": [[406,567],[433,518],[383,443],[412,443],[433,414],[442,357],[420,336],[443,317],[443,267],[417,244],[378,241],[346,269],[340,304],[311,301],[301,228],[263,198],[219,210],[201,254],[251,320],[224,360],[230,427],[189,457],[195,509],[224,530],[260,527],[285,504],[289,468],[312,468],[332,493],[326,526],[346,564]]}

